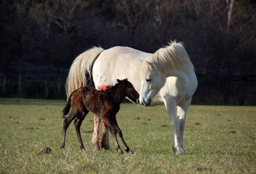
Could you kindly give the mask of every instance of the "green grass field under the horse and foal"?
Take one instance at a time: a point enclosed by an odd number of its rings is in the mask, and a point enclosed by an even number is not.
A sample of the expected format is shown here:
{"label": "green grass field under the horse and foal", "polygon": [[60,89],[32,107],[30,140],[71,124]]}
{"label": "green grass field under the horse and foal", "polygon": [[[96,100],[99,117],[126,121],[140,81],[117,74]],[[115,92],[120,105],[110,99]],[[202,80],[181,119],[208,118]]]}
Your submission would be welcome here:
{"label": "green grass field under the horse and foal", "polygon": [[[256,173],[256,107],[190,106],[186,155],[173,155],[164,106],[121,105],[117,114],[134,154],[92,151],[93,116],[83,121],[85,151],[74,125],[61,152],[65,101],[0,98],[0,173]],[[49,147],[50,154],[41,150]],[[121,145],[121,149],[123,149]]]}

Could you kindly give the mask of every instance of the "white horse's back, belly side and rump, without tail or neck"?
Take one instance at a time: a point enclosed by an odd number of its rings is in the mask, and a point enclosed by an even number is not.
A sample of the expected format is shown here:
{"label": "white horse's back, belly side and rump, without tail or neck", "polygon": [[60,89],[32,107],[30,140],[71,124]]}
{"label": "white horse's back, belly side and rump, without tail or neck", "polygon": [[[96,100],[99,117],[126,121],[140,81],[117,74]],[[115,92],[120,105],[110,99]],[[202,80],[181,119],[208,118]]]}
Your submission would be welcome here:
{"label": "white horse's back, belly side and rump, without tail or neck", "polygon": [[113,47],[104,50],[93,65],[93,80],[95,87],[106,85],[113,86],[116,80],[128,79],[134,88],[139,91],[141,60],[151,54],[129,47]]}

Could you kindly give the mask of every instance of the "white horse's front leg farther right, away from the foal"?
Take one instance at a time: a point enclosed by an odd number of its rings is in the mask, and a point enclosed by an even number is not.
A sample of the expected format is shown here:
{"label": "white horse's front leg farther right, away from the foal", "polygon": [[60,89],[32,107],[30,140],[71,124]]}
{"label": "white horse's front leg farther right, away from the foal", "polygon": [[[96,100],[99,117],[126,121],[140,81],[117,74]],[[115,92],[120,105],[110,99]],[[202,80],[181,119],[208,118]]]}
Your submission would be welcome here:
{"label": "white horse's front leg farther right, away from the foal", "polygon": [[188,99],[185,103],[183,103],[181,106],[177,106],[177,115],[178,115],[178,123],[179,123],[179,144],[181,149],[186,153],[183,146],[183,134],[184,134],[184,128],[185,128],[185,121],[186,121],[186,115],[188,111],[188,107],[191,103],[191,98]]}

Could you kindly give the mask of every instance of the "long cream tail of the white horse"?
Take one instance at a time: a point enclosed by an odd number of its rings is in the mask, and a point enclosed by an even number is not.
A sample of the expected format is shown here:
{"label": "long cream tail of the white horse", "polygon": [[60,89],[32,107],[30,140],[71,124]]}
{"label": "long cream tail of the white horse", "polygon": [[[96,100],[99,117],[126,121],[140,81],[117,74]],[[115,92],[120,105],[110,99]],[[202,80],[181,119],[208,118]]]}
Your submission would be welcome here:
{"label": "long cream tail of the white horse", "polygon": [[[65,85],[67,96],[79,87],[86,86],[86,82],[91,79],[92,66],[103,50],[101,47],[93,47],[77,56],[69,69]],[[86,72],[89,73],[88,79],[86,79]]]}

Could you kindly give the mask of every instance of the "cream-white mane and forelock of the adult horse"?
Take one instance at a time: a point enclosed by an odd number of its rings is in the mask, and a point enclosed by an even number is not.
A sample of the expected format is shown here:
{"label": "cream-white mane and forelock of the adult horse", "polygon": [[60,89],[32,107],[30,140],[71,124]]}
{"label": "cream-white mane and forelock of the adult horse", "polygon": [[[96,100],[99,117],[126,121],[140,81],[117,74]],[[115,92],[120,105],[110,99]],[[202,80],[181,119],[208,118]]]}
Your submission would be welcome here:
{"label": "cream-white mane and forelock of the adult horse", "polygon": [[[189,69],[194,69],[187,51],[181,42],[176,40],[169,42],[169,45],[158,49],[152,56],[146,59],[148,62],[155,65],[156,70],[164,75],[170,72],[170,69],[179,69],[182,72],[188,72]],[[146,73],[148,68],[142,67],[142,71]]]}

